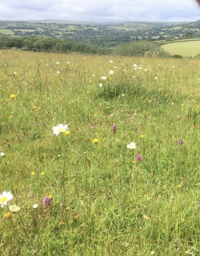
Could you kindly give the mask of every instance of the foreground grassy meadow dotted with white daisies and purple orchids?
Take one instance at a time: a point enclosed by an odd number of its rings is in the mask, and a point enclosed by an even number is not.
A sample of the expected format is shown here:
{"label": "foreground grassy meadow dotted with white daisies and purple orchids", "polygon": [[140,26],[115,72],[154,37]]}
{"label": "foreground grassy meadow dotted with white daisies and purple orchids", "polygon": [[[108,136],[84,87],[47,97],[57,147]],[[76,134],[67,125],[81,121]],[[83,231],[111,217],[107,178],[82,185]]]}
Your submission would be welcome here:
{"label": "foreground grassy meadow dotted with white daisies and purple orchids", "polygon": [[1,50],[0,77],[0,255],[199,255],[198,60]]}

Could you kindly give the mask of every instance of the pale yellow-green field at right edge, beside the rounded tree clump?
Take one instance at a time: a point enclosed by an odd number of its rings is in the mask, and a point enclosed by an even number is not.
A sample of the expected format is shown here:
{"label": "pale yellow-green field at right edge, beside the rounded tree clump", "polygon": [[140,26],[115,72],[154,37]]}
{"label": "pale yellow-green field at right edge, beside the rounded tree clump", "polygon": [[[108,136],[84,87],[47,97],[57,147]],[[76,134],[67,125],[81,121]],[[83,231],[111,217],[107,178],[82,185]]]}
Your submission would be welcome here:
{"label": "pale yellow-green field at right edge, beside the rounded tree clump", "polygon": [[200,53],[200,41],[174,42],[162,45],[162,48],[171,55],[179,54],[183,57],[194,57]]}

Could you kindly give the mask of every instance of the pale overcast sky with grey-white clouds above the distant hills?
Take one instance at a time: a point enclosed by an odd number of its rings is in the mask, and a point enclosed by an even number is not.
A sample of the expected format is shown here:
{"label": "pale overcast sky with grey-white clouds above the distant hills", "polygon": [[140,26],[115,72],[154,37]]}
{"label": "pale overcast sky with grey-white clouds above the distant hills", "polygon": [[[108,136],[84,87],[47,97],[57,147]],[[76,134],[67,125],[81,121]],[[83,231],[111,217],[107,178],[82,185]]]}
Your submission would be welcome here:
{"label": "pale overcast sky with grey-white clouds above the distant hills", "polygon": [[0,20],[194,21],[196,0],[0,0]]}

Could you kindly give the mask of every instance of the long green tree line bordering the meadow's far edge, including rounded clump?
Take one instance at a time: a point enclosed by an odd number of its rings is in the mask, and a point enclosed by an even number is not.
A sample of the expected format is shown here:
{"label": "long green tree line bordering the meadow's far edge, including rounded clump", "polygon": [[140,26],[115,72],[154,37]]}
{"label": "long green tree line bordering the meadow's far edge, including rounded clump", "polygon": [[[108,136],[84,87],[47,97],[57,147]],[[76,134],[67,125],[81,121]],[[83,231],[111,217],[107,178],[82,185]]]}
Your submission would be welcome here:
{"label": "long green tree line bordering the meadow's far edge, including rounded clump", "polygon": [[158,43],[147,40],[133,40],[130,43],[119,44],[114,49],[104,49],[96,47],[96,45],[73,42],[69,39],[43,38],[38,36],[20,36],[19,38],[0,36],[0,47],[81,52],[100,55],[113,54],[118,56],[169,56],[169,53],[164,52]]}

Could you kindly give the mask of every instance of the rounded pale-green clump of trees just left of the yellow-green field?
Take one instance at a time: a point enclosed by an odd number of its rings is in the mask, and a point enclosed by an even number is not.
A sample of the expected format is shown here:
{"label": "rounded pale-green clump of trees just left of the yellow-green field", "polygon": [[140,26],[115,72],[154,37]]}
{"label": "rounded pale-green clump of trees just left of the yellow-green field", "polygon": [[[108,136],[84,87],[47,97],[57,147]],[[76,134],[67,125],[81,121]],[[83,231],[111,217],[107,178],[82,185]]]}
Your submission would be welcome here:
{"label": "rounded pale-green clump of trees just left of the yellow-green field", "polygon": [[165,52],[156,42],[142,40],[132,41],[128,44],[120,44],[114,49],[113,53],[122,56],[169,56],[169,53]]}

